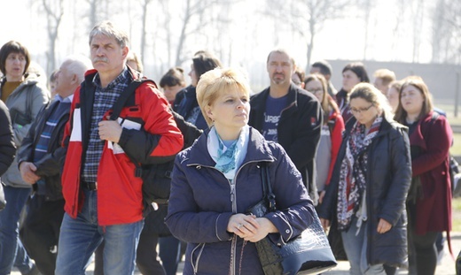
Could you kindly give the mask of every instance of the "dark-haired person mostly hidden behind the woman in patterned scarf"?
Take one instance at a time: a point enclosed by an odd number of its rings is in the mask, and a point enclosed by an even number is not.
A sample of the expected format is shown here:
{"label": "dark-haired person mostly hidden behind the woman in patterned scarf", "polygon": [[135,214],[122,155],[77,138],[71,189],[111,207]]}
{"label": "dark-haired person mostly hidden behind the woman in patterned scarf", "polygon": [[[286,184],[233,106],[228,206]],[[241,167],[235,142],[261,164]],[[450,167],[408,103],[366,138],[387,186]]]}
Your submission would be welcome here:
{"label": "dark-haired person mostly hidden behind the woman in patterned scarf", "polygon": [[361,62],[349,63],[342,69],[342,88],[336,94],[336,103],[338,103],[344,122],[348,122],[352,118],[352,113],[349,111],[349,98],[348,95],[356,84],[365,82],[370,83],[368,73],[366,73],[365,66]]}

